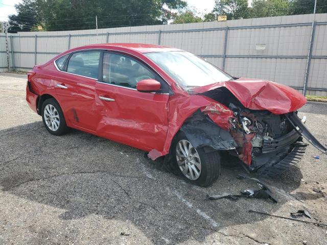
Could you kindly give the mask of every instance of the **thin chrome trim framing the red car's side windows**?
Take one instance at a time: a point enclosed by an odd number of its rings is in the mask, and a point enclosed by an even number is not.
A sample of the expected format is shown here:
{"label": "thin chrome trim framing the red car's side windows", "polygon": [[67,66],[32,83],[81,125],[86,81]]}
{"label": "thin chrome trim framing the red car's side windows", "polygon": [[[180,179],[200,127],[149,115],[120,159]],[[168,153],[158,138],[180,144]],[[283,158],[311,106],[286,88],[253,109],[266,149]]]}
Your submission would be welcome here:
{"label": "thin chrome trim framing the red car's side windows", "polygon": [[[83,77],[83,78],[89,78],[89,79],[92,79],[92,80],[96,80],[98,83],[108,84],[108,85],[112,85],[112,86],[116,86],[116,87],[121,87],[121,88],[126,88],[126,89],[132,89],[132,90],[136,90],[136,91],[137,91],[137,89],[135,89],[135,88],[128,88],[128,87],[124,87],[124,86],[120,86],[120,85],[116,85],[116,84],[109,84],[109,83],[99,82],[99,81],[98,81],[98,78],[86,77],[86,76],[82,76],[82,75],[74,74],[74,73],[71,73],[71,72],[63,71],[63,70],[60,70],[60,69],[58,68],[58,66],[57,66],[57,64],[56,64],[56,61],[57,61],[58,59],[60,59],[61,57],[65,56],[65,55],[69,55],[69,54],[72,54],[72,53],[77,53],[77,52],[80,52],[80,51],[118,52],[118,53],[124,53],[124,54],[130,55],[130,56],[132,56],[132,57],[135,57],[135,56],[134,56],[133,54],[131,54],[131,53],[128,53],[128,52],[125,52],[125,51],[120,51],[120,50],[110,50],[110,49],[106,49],[106,48],[84,48],[83,50],[76,50],[76,51],[69,52],[69,53],[64,54],[64,55],[58,57],[57,59],[55,59],[55,60],[53,61],[53,63],[54,63],[54,65],[55,65],[56,69],[57,69],[59,72],[63,72],[63,73],[66,73],[66,74],[71,74],[71,75],[75,75],[75,76],[79,76],[79,77]],[[137,57],[136,57],[136,58],[137,58]],[[138,58],[138,59],[139,59],[139,58]],[[147,64],[147,65],[148,65],[152,70],[154,70],[154,72],[156,72],[155,69],[154,69],[151,65],[148,64],[148,62],[145,62],[144,60],[142,60],[142,61],[143,61],[144,63],[146,63],[146,64]],[[100,61],[99,61],[99,62],[100,62]],[[100,64],[99,64],[99,66],[100,66]],[[102,66],[102,64],[101,64],[101,66]],[[158,74],[158,72],[156,72],[156,74]],[[162,78],[162,76],[161,76],[160,74],[158,74],[158,76],[162,79],[162,81],[164,81],[165,83],[167,83],[167,85],[169,86],[170,90],[173,92],[172,95],[174,95],[174,91],[171,89],[171,85],[170,85],[170,84],[169,84],[169,83],[168,83],[164,78]],[[156,92],[151,92],[151,93],[156,93]],[[157,93],[157,94],[168,94],[168,95],[170,95],[170,93]]]}

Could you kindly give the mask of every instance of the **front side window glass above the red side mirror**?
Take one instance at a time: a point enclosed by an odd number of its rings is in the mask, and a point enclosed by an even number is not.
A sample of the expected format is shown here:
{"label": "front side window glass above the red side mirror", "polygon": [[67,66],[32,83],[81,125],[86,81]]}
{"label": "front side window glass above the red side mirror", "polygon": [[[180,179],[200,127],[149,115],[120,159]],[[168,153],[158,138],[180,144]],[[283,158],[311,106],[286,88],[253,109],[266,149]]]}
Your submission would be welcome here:
{"label": "front side window glass above the red side mirror", "polygon": [[125,55],[104,53],[102,81],[128,88],[144,79],[157,79],[145,65]]}

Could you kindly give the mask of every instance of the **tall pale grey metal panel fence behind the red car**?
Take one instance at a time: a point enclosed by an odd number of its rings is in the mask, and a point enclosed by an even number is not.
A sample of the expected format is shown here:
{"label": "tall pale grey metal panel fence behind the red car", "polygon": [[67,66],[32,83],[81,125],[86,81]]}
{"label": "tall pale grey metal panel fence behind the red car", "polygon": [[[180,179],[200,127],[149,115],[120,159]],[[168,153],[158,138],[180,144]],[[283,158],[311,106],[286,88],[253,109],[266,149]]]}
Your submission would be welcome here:
{"label": "tall pale grey metal panel fence behind the red car", "polygon": [[[28,69],[69,48],[91,43],[151,43],[200,55],[237,77],[260,78],[327,95],[327,14],[277,16],[225,22],[11,34],[13,68]],[[313,44],[310,45],[312,26]],[[309,52],[311,48],[311,52]],[[6,69],[0,34],[0,70]],[[309,72],[307,72],[309,71]],[[308,73],[308,76],[306,76]],[[306,80],[306,77],[307,80]]]}

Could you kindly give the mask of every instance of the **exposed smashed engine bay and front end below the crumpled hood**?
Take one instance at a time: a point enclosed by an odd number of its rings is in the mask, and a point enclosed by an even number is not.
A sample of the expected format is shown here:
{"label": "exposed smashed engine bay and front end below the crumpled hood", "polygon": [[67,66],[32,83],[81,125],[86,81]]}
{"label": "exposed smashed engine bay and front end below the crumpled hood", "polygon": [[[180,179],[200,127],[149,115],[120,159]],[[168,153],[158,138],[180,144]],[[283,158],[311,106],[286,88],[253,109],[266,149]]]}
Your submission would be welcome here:
{"label": "exposed smashed engine bay and front end below the crumpled hood", "polygon": [[[302,142],[301,134],[303,131],[307,134],[310,132],[303,125],[306,118],[301,121],[297,112],[273,114],[268,110],[250,110],[225,87],[206,91],[202,95],[221,104],[200,108],[182,126],[181,130],[194,146],[228,150],[242,160],[249,170],[267,176],[281,174],[305,154],[307,144]],[[222,115],[228,118],[228,124],[222,122]],[[208,121],[214,123],[208,124]],[[306,138],[311,143],[316,141],[320,144],[311,134]],[[327,153],[322,144],[315,146]]]}

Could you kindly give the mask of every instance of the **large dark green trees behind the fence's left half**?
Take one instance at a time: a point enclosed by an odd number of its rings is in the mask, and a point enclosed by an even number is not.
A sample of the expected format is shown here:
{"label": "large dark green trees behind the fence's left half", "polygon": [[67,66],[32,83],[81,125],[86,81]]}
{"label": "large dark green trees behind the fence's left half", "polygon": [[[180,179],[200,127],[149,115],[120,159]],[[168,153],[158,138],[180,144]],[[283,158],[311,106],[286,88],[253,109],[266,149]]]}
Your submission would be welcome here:
{"label": "large dark green trees behind the fence's left half", "polygon": [[11,31],[31,31],[44,23],[48,31],[142,26],[167,23],[183,0],[23,0],[9,16]]}

